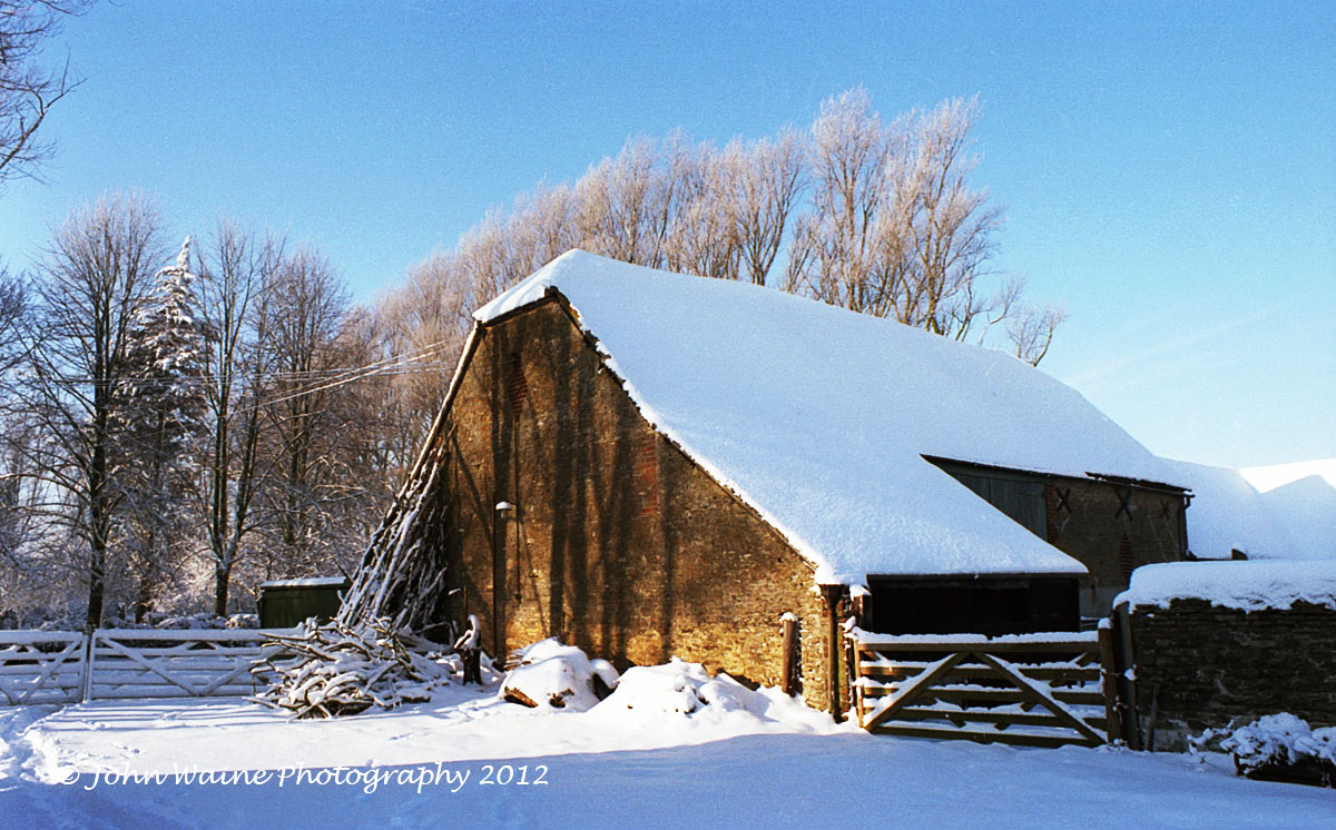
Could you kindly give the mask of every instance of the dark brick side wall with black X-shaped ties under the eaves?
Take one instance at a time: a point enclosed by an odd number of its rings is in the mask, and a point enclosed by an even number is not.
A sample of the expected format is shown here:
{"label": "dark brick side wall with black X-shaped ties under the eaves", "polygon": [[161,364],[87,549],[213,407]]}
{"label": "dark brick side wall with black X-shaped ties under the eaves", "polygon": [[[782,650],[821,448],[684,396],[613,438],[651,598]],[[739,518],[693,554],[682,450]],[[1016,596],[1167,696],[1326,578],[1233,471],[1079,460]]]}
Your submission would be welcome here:
{"label": "dark brick side wall with black X-shaped ties under the eaves", "polygon": [[1182,496],[1050,478],[1045,502],[1047,542],[1090,571],[1079,584],[1082,616],[1108,616],[1133,568],[1186,558]]}

